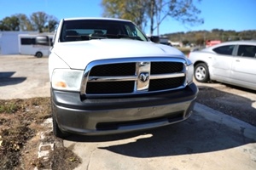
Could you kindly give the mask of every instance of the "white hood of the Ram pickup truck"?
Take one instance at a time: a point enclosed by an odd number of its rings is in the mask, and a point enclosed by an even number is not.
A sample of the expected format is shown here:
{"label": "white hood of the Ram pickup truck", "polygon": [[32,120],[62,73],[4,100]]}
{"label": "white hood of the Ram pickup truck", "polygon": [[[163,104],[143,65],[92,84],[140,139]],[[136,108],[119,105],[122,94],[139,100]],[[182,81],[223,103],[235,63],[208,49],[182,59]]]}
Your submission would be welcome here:
{"label": "white hood of the Ram pickup truck", "polygon": [[101,39],[83,42],[55,43],[51,53],[63,59],[72,69],[84,70],[93,60],[132,57],[180,57],[183,53],[162,44],[129,39]]}

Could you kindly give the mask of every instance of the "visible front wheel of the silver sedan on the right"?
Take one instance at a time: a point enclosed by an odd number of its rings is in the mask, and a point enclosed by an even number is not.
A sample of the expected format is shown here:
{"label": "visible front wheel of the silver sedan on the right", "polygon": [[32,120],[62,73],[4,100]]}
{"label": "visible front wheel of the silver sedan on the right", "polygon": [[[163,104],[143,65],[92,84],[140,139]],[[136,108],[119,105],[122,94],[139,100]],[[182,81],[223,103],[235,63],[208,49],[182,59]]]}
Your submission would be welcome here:
{"label": "visible front wheel of the silver sedan on the right", "polygon": [[208,67],[204,63],[195,65],[194,72],[195,80],[198,82],[208,82],[209,81],[209,71]]}

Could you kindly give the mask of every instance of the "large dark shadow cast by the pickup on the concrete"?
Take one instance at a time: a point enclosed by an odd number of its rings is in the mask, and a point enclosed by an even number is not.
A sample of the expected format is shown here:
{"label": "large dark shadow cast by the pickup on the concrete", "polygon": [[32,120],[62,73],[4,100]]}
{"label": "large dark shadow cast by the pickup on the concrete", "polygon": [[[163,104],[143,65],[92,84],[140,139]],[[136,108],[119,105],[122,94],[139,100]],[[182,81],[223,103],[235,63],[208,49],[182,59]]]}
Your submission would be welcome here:
{"label": "large dark shadow cast by the pickup on the concrete", "polygon": [[[73,135],[67,140],[93,143],[112,141],[108,146],[98,147],[98,149],[109,150],[125,156],[146,158],[227,150],[256,142],[256,139],[245,138],[242,130],[241,128],[241,131],[236,132],[223,124],[207,121],[195,112],[185,122],[141,133],[108,136]],[[122,141],[121,144],[119,144],[120,141]]]}

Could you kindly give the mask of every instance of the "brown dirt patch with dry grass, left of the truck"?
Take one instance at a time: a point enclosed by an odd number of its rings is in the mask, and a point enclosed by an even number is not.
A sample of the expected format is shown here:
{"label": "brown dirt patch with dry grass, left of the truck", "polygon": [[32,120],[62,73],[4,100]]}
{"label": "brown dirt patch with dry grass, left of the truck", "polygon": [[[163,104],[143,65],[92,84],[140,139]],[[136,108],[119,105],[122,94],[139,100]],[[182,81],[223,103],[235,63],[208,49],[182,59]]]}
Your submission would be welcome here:
{"label": "brown dirt patch with dry grass, left of the truck", "polygon": [[55,143],[49,160],[38,159],[40,132],[43,122],[50,117],[49,98],[0,100],[0,169],[73,169],[79,157],[63,147],[61,139],[52,133],[44,140]]}

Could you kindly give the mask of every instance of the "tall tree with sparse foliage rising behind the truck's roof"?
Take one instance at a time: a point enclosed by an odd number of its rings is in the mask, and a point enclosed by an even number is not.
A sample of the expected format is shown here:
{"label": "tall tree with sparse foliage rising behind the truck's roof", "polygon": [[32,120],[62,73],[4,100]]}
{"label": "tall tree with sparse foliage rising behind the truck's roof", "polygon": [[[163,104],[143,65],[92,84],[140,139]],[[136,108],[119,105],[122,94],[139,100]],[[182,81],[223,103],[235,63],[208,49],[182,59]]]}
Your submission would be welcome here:
{"label": "tall tree with sparse foliage rising behind the truck's roof", "polygon": [[103,16],[132,20],[141,28],[147,26],[149,19],[151,35],[155,29],[159,35],[160,24],[167,17],[190,26],[204,21],[198,18],[201,11],[193,0],[102,0],[102,7]]}

